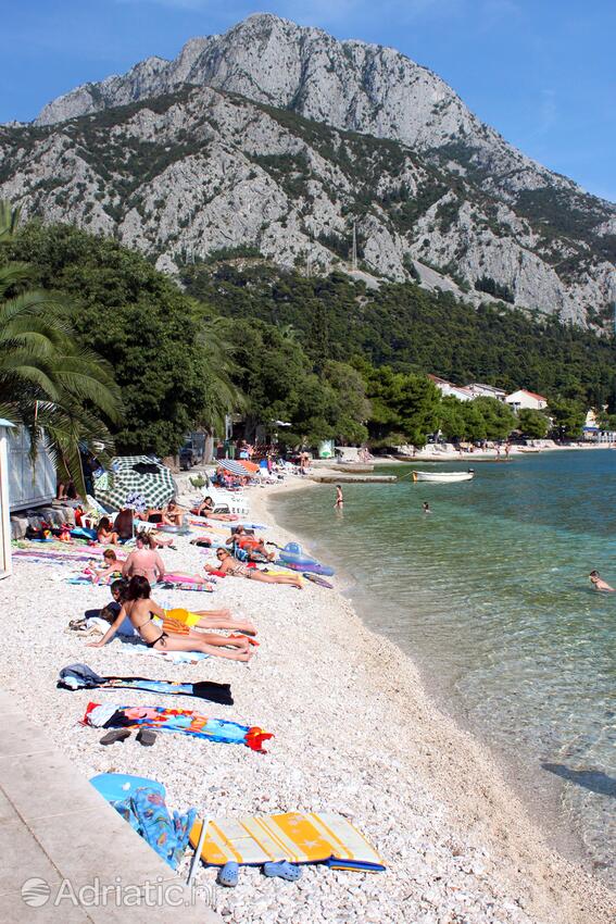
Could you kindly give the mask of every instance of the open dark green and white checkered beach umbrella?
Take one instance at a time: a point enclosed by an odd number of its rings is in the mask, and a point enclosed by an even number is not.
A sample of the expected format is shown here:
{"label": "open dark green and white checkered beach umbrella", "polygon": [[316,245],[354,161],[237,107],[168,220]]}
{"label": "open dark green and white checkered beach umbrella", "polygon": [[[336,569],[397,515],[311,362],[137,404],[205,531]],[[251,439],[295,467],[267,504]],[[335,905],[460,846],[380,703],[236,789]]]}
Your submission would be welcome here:
{"label": "open dark green and white checkered beach umbrella", "polygon": [[171,471],[148,455],[118,455],[95,479],[95,496],[113,510],[164,507],[176,494]]}

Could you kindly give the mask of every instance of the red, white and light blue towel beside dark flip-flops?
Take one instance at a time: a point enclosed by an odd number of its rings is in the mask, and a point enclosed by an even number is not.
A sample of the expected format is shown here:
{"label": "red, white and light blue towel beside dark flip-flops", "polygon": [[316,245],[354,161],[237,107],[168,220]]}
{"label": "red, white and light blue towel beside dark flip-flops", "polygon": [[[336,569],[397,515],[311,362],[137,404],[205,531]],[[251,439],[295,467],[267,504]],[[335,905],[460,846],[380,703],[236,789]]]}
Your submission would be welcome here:
{"label": "red, white and light blue towel beside dark flip-flops", "polygon": [[154,732],[178,732],[193,738],[227,745],[246,745],[253,751],[263,750],[263,741],[273,738],[257,725],[240,725],[226,719],[208,719],[187,709],[163,709],[158,706],[101,706],[88,703],[81,720],[96,728],[152,728]]}

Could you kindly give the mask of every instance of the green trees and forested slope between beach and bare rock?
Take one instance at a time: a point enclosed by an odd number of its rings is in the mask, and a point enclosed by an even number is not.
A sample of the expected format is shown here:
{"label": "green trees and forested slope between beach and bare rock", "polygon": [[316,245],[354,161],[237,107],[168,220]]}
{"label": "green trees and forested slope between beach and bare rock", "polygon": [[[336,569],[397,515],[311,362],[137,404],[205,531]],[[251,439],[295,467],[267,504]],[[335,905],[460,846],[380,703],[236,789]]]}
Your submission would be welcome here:
{"label": "green trees and forested slope between beach and bare rock", "polygon": [[[37,286],[73,305],[72,329],[122,388],[121,451],[177,451],[186,430],[241,412],[248,433],[289,445],[373,446],[544,435],[490,398],[441,399],[426,373],[527,387],[550,399],[556,433],[579,434],[589,405],[614,409],[615,345],[554,320],[478,310],[419,287],[366,289],[342,274],[305,278],[237,255],[185,267],[185,290],[139,253],[66,225],[33,222],[3,246]],[[280,427],[280,422],[285,425]]]}

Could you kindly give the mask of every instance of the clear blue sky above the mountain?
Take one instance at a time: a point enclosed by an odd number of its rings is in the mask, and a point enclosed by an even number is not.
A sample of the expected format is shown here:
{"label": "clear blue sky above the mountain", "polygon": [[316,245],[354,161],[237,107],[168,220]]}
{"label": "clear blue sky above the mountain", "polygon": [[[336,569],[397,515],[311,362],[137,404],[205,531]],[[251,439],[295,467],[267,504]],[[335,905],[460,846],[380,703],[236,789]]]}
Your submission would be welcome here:
{"label": "clear blue sky above the mountain", "polygon": [[263,11],[400,49],[527,154],[616,201],[615,0],[21,0],[2,11],[0,122]]}

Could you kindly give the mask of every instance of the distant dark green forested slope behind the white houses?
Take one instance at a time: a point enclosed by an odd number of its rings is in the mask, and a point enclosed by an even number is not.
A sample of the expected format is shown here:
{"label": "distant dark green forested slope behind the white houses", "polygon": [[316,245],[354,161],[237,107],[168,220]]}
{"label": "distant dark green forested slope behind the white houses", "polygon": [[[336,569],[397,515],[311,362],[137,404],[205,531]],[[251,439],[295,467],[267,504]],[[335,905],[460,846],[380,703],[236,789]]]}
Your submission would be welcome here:
{"label": "distant dark green forested slope behind the white houses", "polygon": [[181,282],[222,314],[292,325],[316,363],[359,354],[401,372],[615,408],[614,338],[598,338],[555,317],[504,304],[475,309],[412,283],[368,290],[341,273],[306,278],[263,263],[187,266]]}

